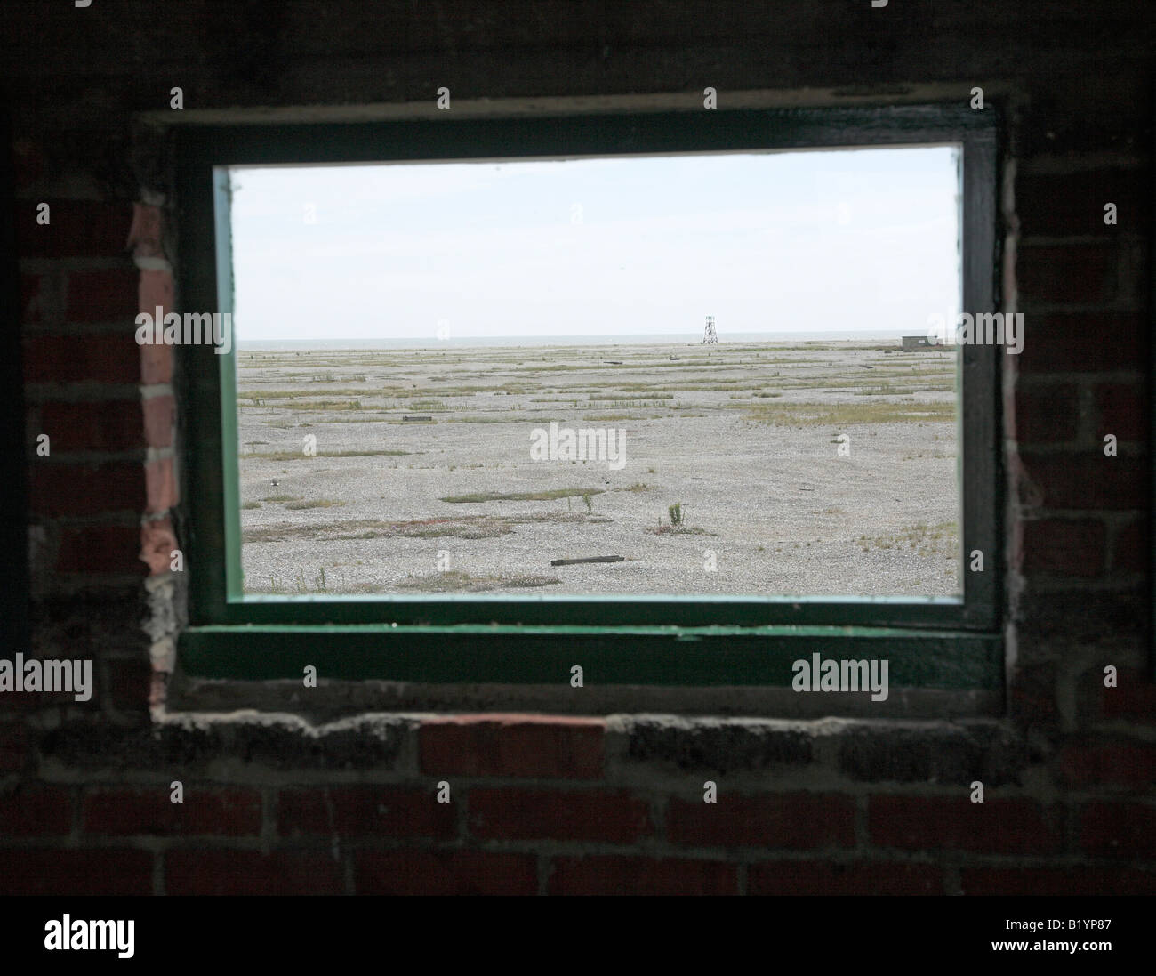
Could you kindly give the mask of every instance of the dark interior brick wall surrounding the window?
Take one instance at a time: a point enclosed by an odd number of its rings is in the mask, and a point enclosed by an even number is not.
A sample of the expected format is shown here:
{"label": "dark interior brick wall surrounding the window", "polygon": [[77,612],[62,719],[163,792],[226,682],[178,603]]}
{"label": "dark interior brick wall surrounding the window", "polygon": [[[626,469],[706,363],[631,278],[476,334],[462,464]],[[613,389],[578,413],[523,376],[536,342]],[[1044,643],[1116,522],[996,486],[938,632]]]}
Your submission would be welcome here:
{"label": "dark interior brick wall surrounding the window", "polygon": [[[84,704],[0,696],[0,889],[1156,890],[1154,17],[1135,0],[3,5],[35,596],[30,648],[3,657],[92,658],[98,681]],[[175,86],[185,112],[323,114],[431,108],[440,86],[470,111],[983,87],[1007,120],[1003,294],[1025,316],[1003,405],[1006,717],[162,722],[171,655],[146,626],[169,585],[179,402],[171,361],[133,339],[169,282],[134,259],[176,260],[163,228],[179,214],[134,120],[170,111]],[[440,779],[451,804],[432,801]]]}

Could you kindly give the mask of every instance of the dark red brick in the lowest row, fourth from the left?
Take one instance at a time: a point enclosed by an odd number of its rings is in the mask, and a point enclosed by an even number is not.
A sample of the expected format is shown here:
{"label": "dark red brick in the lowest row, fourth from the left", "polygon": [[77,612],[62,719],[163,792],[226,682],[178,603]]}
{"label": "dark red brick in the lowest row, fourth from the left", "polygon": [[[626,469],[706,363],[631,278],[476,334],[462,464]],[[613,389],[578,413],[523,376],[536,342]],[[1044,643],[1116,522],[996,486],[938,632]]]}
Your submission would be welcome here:
{"label": "dark red brick in the lowest row, fourth from the left", "polygon": [[647,857],[558,857],[551,895],[736,895],[735,865],[717,860]]}

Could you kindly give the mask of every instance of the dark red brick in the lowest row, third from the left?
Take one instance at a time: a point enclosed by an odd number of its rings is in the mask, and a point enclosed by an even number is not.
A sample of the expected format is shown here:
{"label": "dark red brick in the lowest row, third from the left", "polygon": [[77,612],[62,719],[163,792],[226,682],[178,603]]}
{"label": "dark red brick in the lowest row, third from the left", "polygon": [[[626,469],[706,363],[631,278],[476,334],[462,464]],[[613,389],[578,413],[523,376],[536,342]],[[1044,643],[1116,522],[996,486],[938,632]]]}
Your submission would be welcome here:
{"label": "dark red brick in the lowest row, third from the left", "polygon": [[533,855],[476,850],[361,850],[360,895],[534,895]]}

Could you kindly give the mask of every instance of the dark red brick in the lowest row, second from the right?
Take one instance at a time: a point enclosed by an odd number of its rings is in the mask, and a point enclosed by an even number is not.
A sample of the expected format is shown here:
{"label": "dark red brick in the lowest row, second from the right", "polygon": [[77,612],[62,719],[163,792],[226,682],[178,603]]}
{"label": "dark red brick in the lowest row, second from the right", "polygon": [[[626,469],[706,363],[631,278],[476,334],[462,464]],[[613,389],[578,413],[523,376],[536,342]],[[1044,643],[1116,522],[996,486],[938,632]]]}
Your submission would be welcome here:
{"label": "dark red brick in the lowest row, second from the right", "polygon": [[942,895],[943,868],[929,864],[866,862],[823,864],[778,860],[754,864],[750,895]]}

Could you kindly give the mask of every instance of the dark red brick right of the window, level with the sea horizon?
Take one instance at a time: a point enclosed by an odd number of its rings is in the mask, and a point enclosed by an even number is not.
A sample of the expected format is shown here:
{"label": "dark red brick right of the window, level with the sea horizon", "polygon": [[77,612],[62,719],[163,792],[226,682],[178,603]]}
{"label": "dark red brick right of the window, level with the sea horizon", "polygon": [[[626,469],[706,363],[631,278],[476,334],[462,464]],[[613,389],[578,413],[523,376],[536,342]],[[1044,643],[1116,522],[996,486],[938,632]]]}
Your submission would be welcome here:
{"label": "dark red brick right of the window, level with the sea horizon", "polygon": [[1024,316],[1016,368],[1037,372],[1117,372],[1136,369],[1148,350],[1148,326],[1138,312]]}

